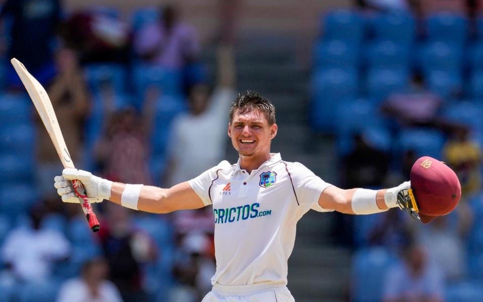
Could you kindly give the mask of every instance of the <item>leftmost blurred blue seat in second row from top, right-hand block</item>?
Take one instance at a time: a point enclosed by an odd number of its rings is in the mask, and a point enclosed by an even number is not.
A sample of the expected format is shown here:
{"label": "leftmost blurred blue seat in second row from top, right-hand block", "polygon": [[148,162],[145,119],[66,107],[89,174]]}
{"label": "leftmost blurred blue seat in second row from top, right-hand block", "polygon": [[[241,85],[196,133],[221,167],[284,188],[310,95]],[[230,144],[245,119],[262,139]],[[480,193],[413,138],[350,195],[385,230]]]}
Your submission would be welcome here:
{"label": "leftmost blurred blue seat in second row from top, right-hand block", "polygon": [[325,40],[314,47],[314,67],[357,68],[359,65],[358,47],[343,40]]}

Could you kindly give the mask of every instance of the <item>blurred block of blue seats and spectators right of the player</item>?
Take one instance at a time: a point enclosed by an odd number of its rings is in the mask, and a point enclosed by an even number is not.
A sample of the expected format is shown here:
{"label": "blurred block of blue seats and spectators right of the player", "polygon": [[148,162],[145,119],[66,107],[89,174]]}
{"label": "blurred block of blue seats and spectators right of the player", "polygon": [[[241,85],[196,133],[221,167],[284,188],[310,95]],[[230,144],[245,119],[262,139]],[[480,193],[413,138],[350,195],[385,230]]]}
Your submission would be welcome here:
{"label": "blurred block of blue seats and spectators right of the player", "polygon": [[397,185],[429,155],[462,188],[456,210],[429,225],[402,211],[339,216],[353,301],[483,297],[480,14],[477,1],[357,1],[322,18],[311,124],[335,136],[343,187]]}

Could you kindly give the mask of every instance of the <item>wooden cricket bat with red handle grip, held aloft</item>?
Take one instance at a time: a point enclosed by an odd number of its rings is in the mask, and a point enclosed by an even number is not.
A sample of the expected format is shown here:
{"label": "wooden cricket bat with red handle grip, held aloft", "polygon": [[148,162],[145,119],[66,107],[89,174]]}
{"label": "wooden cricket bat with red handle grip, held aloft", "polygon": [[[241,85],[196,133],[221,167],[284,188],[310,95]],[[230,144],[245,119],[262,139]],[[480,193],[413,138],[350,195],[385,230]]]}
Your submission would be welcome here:
{"label": "wooden cricket bat with red handle grip, held aloft", "polygon": [[[10,62],[12,62],[12,65],[14,65],[15,71],[17,71],[17,74],[22,80],[25,89],[27,89],[27,92],[32,99],[32,103],[34,103],[35,109],[37,109],[45,129],[47,129],[47,132],[49,133],[50,139],[54,144],[55,150],[57,151],[62,165],[64,168],[75,168],[71,155],[69,154],[67,146],[65,145],[62,132],[60,131],[57,117],[55,116],[54,109],[52,108],[52,103],[50,102],[50,98],[47,95],[44,87],[42,87],[42,85],[27,71],[25,66],[19,60],[13,58],[10,60]],[[79,202],[81,203],[82,210],[84,211],[87,221],[89,222],[89,227],[93,232],[99,231],[99,221],[97,220],[97,217],[92,210],[92,206],[87,199],[82,182],[78,179],[75,179],[72,181],[72,185],[77,196],[79,197]]]}

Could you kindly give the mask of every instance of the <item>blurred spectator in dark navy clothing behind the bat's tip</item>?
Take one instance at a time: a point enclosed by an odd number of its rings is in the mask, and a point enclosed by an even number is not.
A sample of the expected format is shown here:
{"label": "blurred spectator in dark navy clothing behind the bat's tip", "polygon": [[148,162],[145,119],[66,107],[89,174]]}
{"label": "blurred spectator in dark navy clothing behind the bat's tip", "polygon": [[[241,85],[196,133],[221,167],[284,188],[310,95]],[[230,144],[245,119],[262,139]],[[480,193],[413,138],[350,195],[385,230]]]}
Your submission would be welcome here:
{"label": "blurred spectator in dark navy clothing behind the bat's tip", "polygon": [[[19,59],[43,85],[55,76],[52,44],[60,15],[59,0],[7,0],[0,11],[1,19],[12,18],[8,58]],[[8,69],[7,81],[10,88],[23,89],[12,66]]]}

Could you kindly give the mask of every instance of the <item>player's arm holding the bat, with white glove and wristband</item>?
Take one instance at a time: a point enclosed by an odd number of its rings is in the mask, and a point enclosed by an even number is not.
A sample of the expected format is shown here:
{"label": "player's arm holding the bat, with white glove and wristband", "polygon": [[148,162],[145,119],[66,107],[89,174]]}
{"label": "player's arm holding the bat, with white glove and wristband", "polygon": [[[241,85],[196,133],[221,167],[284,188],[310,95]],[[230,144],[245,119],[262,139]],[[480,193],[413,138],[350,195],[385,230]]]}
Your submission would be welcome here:
{"label": "player's arm holding the bat, with white glove and wristband", "polygon": [[79,203],[69,181],[73,179],[79,179],[83,183],[90,203],[99,203],[107,199],[126,208],[150,213],[169,213],[205,206],[187,181],[165,189],[142,184],[112,182],[77,169],[64,169],[62,176],[56,176],[54,179],[54,186],[57,188],[57,193],[62,196],[63,202]]}

